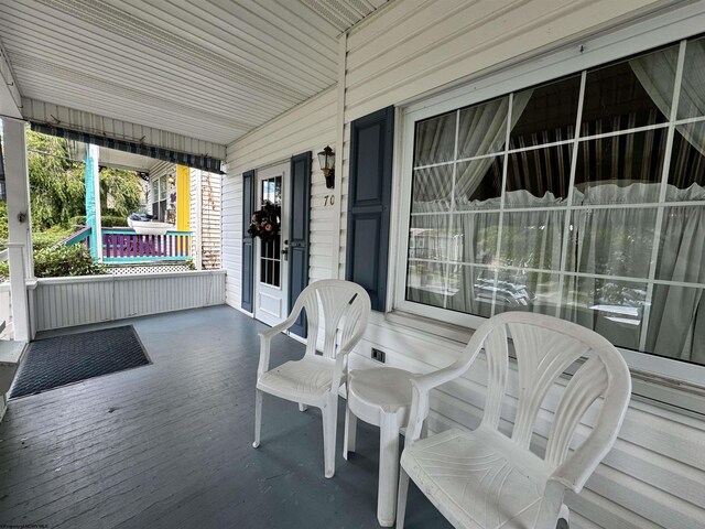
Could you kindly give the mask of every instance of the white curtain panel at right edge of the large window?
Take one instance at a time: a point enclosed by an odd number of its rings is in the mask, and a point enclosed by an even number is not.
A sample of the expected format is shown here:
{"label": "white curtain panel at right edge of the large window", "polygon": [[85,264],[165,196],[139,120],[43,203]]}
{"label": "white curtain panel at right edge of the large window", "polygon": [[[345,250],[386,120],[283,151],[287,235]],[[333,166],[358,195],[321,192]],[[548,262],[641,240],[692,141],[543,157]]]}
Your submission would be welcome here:
{"label": "white curtain panel at right edge of the large window", "polygon": [[[639,83],[659,110],[671,115],[673,87],[664,72],[675,73],[677,55],[652,53],[629,62]],[[690,65],[696,67],[688,67]],[[691,41],[686,50],[686,67],[681,80],[679,118],[705,116],[705,40]],[[680,133],[705,155],[704,123],[680,126]],[[693,183],[687,190],[669,186],[669,202],[704,199],[705,188]],[[665,208],[660,237],[657,279],[679,282],[705,282],[705,210],[703,206]],[[673,333],[683,328],[682,334]],[[703,290],[686,287],[657,285],[651,299],[651,317],[647,350],[683,360],[705,364],[705,302]]]}

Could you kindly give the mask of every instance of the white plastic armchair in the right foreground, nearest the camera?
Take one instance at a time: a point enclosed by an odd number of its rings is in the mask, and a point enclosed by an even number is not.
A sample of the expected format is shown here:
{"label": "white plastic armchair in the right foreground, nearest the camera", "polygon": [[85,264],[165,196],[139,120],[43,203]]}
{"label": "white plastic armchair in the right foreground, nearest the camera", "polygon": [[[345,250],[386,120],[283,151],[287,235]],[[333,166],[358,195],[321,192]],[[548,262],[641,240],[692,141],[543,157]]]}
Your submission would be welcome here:
{"label": "white plastic armchair in the right foreground, nearest the camera", "polygon": [[[498,430],[509,376],[508,333],[518,365],[511,438]],[[419,440],[429,413],[429,391],[460,377],[482,348],[488,389],[480,425],[469,432],[451,429]],[[544,397],[556,378],[583,356],[587,359],[555,408],[545,455],[536,455],[530,444]],[[609,452],[631,392],[629,369],[607,339],[574,323],[520,312],[485,322],[457,361],[413,379],[412,386],[408,444],[399,478],[398,528],[404,525],[409,477],[458,528],[554,529],[560,519],[567,522],[564,493],[579,493]],[[581,418],[600,397],[592,431],[575,450],[568,450]]]}

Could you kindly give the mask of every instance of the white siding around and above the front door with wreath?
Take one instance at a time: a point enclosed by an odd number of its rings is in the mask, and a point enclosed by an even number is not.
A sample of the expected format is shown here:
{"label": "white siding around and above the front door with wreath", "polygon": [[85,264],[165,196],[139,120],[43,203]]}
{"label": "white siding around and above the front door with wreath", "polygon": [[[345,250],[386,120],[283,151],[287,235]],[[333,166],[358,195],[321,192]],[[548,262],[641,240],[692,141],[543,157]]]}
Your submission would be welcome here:
{"label": "white siding around and above the front door with wreath", "polygon": [[336,108],[333,87],[228,145],[227,174],[223,177],[223,267],[228,271],[229,305],[240,309],[242,294],[242,235],[247,230],[242,227],[242,173],[288,162],[305,151],[312,151],[313,156],[308,280],[332,277],[330,256],[337,240],[332,219],[337,206],[326,206],[325,197],[333,190],[325,186],[316,153],[335,145]]}

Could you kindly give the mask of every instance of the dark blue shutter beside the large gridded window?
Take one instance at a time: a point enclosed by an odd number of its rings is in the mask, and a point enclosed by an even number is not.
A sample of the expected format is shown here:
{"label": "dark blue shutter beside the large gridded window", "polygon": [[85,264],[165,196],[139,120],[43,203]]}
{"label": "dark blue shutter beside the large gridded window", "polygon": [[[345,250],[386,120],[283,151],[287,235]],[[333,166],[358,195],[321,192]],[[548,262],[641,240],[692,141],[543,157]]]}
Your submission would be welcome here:
{"label": "dark blue shutter beside the large gridded window", "polygon": [[372,310],[387,304],[387,261],[392,196],[394,107],[352,121],[345,277],[370,294]]}

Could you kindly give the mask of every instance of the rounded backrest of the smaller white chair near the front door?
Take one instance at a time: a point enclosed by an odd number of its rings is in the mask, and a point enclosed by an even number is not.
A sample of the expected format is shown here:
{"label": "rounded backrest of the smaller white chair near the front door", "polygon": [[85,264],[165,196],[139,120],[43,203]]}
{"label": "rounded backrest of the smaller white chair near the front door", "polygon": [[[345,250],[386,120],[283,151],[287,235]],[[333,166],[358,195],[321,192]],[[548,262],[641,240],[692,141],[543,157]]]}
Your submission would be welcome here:
{"label": "rounded backrest of the smaller white chair near the front door", "polygon": [[323,324],[323,356],[335,358],[338,350],[359,339],[370,313],[370,296],[357,283],[324,279],[301,292],[292,313],[301,309],[306,311],[308,322],[306,354],[316,353],[318,330]]}

